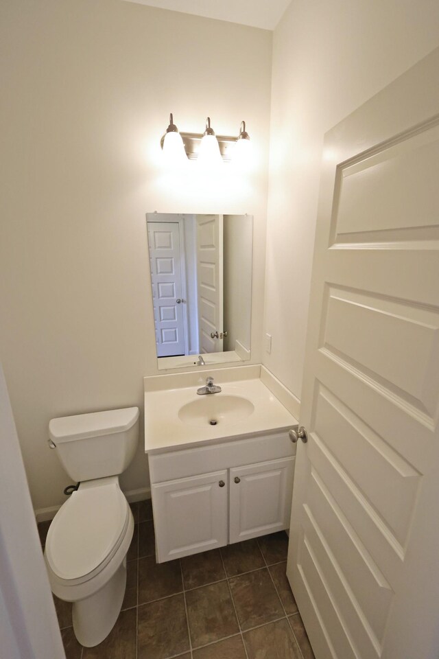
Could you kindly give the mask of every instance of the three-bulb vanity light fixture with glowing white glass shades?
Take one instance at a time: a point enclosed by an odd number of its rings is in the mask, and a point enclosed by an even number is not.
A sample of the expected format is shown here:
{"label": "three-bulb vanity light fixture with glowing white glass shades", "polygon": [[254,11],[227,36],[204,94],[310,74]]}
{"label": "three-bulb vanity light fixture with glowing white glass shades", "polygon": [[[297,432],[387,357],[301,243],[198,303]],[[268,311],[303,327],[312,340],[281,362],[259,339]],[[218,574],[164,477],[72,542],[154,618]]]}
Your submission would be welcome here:
{"label": "three-bulb vanity light fixture with glowing white glass shades", "polygon": [[[181,149],[181,142],[183,149]],[[169,150],[168,150],[169,143]],[[177,145],[178,144],[178,148]],[[173,159],[172,153],[176,152],[176,158],[179,160],[187,157],[189,160],[197,160],[200,156],[203,160],[205,155],[206,159],[210,162],[219,162],[219,156],[224,162],[233,159],[241,160],[242,152],[248,151],[250,144],[250,135],[246,131],[246,122],[241,122],[238,137],[230,135],[215,135],[213,128],[211,128],[211,119],[207,117],[206,128],[204,132],[178,132],[177,126],[174,124],[172,115],[169,115],[169,126],[161,139],[161,147],[167,158]],[[173,159],[175,161],[175,159]],[[206,161],[204,161],[206,162]]]}

